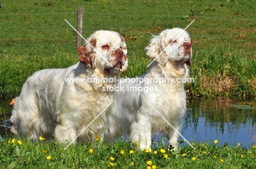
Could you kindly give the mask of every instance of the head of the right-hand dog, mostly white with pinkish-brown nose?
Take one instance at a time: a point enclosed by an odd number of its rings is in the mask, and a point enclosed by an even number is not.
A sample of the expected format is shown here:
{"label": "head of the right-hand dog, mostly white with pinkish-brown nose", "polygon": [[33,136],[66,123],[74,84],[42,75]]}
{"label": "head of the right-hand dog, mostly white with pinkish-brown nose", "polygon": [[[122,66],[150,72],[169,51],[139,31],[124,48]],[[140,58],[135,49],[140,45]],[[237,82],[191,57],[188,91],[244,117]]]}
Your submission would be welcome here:
{"label": "head of the right-hand dog, mostly white with pinkish-brown nose", "polygon": [[161,65],[168,61],[191,65],[191,39],[183,29],[172,28],[162,31],[160,35],[153,36],[145,49],[148,50],[147,55]]}

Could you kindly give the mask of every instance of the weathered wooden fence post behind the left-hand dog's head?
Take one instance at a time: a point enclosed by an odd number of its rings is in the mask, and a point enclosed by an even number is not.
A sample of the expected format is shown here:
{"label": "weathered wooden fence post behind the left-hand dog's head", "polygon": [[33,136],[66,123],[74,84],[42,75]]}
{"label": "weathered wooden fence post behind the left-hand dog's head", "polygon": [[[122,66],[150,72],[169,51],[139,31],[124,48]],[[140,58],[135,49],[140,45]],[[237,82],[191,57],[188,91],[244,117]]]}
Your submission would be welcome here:
{"label": "weathered wooden fence post behind the left-hand dog's head", "polygon": [[[82,34],[82,30],[83,30],[83,15],[84,15],[84,8],[78,6],[77,9],[77,31]],[[75,49],[78,49],[78,47],[81,46],[81,37],[80,35],[77,33],[77,39],[76,39],[76,45],[75,45]]]}

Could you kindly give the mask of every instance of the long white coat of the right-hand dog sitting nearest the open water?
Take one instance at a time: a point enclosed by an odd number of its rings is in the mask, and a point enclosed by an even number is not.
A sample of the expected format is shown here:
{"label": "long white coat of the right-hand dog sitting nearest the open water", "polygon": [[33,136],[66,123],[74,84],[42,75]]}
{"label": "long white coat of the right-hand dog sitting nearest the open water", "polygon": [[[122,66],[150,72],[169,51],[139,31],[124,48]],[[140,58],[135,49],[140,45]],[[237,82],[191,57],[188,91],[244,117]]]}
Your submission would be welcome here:
{"label": "long white coat of the right-hand dog sitting nearest the open water", "polygon": [[[146,47],[147,55],[156,58],[167,45],[174,40],[183,29],[173,28],[162,31],[154,36],[150,45]],[[166,51],[156,58],[150,65],[148,72],[139,78],[183,78],[189,77],[189,69],[186,64],[191,55],[184,55],[184,43],[190,43],[187,32],[183,32],[176,40],[166,48]],[[191,52],[191,50],[190,50]],[[191,63],[191,61],[190,61]],[[133,143],[139,143],[140,149],[149,148],[152,144],[152,135],[162,132],[168,138],[168,144],[177,150],[177,132],[168,125],[162,117],[147,103],[149,102],[158,112],[164,116],[178,131],[182,128],[182,118],[186,111],[186,94],[183,83],[154,83],[148,85],[140,82],[119,83],[125,92],[115,92],[112,110],[108,116],[108,129],[105,132],[106,141],[113,141],[120,135],[130,135]],[[131,92],[129,87],[158,88],[154,92]],[[130,90],[130,91],[129,91]],[[144,90],[145,91],[145,90]]]}

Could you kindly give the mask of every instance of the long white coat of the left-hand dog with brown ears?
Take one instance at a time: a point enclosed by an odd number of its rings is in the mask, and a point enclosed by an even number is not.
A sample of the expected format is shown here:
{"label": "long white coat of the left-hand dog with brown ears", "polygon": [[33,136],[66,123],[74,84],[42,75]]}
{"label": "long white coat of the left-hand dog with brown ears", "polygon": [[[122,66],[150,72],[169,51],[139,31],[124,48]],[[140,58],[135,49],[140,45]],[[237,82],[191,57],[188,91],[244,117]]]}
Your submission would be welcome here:
{"label": "long white coat of the left-hand dog with brown ears", "polygon": [[[96,42],[91,45],[95,45],[101,56],[112,65],[116,64],[113,53],[120,51],[120,47],[126,57],[124,38],[117,32],[96,31],[88,41]],[[106,44],[109,45],[108,51],[102,49]],[[70,142],[112,102],[112,93],[103,92],[101,88],[114,86],[115,83],[89,83],[86,79],[114,76],[119,79],[119,71],[105,74],[104,68],[110,65],[94,49],[89,49],[88,44],[83,47],[91,52],[91,65],[78,62],[67,69],[40,70],[27,79],[15,100],[11,116],[15,128],[13,131],[18,136],[32,140],[42,136],[54,138],[57,143]],[[127,64],[127,60],[123,56],[121,65],[124,64]],[[85,82],[66,83],[65,78],[84,78]],[[104,112],[78,137],[78,141],[94,142],[96,135],[102,135],[105,128]]]}

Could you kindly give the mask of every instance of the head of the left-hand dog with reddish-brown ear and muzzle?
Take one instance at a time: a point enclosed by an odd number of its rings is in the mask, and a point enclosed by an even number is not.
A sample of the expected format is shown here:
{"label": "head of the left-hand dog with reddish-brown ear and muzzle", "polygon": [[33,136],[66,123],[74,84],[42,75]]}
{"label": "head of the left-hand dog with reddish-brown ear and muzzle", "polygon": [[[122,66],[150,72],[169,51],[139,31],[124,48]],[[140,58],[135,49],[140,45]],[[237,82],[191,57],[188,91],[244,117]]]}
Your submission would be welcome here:
{"label": "head of the left-hand dog with reddish-brown ear and muzzle", "polygon": [[128,68],[125,39],[113,31],[96,31],[84,46],[77,49],[79,61],[90,69],[117,74]]}

